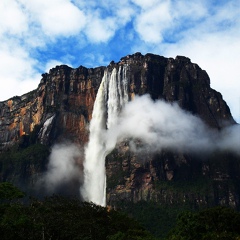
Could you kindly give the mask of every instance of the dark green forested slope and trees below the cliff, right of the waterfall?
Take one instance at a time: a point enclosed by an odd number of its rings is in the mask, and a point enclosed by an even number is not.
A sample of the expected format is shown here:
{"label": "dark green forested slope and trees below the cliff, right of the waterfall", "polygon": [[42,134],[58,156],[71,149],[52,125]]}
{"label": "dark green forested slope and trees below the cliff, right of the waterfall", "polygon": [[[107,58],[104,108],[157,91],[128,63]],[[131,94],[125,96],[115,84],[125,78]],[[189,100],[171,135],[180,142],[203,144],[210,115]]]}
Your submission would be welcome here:
{"label": "dark green forested slope and trees below the cliff, right of the waterfall", "polygon": [[125,204],[124,210],[164,240],[239,240],[240,213],[223,206],[196,211],[191,206],[155,202]]}

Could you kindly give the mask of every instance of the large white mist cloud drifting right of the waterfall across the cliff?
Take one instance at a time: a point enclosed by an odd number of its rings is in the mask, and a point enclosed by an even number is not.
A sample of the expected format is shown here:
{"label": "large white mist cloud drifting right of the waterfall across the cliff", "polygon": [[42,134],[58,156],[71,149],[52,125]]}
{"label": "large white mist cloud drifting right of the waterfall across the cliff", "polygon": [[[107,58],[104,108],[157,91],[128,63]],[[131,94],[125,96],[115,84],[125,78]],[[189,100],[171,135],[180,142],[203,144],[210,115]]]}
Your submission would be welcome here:
{"label": "large white mist cloud drifting right of the waterfall across the cliff", "polygon": [[135,97],[120,114],[117,123],[105,131],[106,148],[109,152],[117,143],[136,139],[132,151],[210,153],[228,150],[240,154],[240,127],[234,125],[218,130],[210,129],[197,116],[181,109],[177,103],[153,101],[149,95]]}

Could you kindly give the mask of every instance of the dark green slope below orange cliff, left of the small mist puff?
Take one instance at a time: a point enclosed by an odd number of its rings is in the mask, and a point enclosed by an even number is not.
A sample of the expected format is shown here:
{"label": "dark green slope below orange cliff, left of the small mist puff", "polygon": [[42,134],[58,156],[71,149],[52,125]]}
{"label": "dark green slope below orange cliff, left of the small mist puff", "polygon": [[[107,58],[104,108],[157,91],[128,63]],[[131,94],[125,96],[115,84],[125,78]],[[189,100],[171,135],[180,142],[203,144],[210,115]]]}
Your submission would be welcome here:
{"label": "dark green slope below orange cliff, left of the small mist puff", "polygon": [[50,150],[38,141],[40,128],[36,125],[29,135],[23,135],[18,143],[0,153],[1,181],[27,183],[29,176],[46,169]]}

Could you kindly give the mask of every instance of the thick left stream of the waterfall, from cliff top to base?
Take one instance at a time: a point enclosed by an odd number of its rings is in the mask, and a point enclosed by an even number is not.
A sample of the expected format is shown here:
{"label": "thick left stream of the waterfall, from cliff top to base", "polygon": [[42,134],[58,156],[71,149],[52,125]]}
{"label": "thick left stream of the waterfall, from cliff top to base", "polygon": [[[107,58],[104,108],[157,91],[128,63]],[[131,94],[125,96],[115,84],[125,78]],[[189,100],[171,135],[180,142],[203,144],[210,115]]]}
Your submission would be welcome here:
{"label": "thick left stream of the waterfall, from cliff top to base", "polygon": [[105,148],[104,143],[101,144],[101,136],[106,126],[104,96],[106,79],[107,76],[104,74],[93,107],[89,142],[85,149],[84,184],[81,189],[85,201],[91,201],[102,206],[106,202]]}

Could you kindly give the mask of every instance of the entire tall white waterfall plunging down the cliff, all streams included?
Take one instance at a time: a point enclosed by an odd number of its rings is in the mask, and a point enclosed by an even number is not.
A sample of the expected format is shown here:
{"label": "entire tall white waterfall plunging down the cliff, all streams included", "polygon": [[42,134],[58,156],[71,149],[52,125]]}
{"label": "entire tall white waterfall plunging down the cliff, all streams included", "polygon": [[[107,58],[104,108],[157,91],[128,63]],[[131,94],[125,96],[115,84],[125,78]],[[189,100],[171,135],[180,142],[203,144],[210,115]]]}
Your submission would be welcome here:
{"label": "entire tall white waterfall plunging down the cliff, all streams included", "polygon": [[111,73],[106,69],[94,103],[89,142],[85,149],[81,189],[85,201],[106,205],[105,158],[114,146],[107,146],[105,136],[127,101],[127,65],[120,66],[118,71],[114,68]]}

